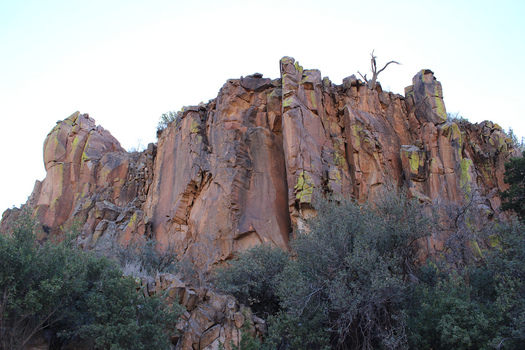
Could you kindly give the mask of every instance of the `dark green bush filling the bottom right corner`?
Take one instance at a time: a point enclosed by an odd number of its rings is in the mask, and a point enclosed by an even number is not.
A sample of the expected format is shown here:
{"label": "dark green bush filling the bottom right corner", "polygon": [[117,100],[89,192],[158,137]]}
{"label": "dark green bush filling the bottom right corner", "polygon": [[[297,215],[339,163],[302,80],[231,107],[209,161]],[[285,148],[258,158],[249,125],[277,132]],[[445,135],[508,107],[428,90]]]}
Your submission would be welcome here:
{"label": "dark green bush filling the bottom right corner", "polygon": [[[429,262],[408,299],[413,349],[522,349],[525,345],[525,239],[517,222],[491,232],[484,259],[451,268]],[[468,247],[467,247],[468,249]]]}

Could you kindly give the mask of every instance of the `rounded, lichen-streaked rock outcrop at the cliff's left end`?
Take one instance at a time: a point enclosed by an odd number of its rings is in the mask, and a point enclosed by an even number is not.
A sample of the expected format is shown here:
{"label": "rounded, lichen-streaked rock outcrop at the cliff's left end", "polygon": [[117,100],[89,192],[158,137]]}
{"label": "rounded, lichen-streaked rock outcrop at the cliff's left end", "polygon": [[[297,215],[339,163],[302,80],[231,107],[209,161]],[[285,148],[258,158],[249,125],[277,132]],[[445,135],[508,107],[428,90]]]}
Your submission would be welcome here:
{"label": "rounded, lichen-streaked rock outcrop at the cliff's left end", "polygon": [[155,149],[150,145],[141,154],[130,154],[109,131],[76,112],[48,134],[47,176],[36,182],[26,207],[47,234],[80,224],[79,243],[89,248],[103,249],[115,240],[148,235],[149,220],[141,207]]}

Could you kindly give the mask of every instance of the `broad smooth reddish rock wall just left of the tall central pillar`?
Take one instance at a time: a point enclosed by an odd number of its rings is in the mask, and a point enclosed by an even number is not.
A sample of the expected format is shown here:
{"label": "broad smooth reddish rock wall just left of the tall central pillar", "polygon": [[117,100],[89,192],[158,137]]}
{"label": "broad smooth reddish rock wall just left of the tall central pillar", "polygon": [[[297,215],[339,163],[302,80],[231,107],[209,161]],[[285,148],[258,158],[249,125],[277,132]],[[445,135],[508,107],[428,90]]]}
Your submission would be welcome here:
{"label": "broad smooth reddish rock wall just left of the tall central pillar", "polygon": [[255,244],[287,247],[276,90],[269,79],[230,80],[215,101],[185,109],[160,135],[145,203],[159,241],[213,262]]}

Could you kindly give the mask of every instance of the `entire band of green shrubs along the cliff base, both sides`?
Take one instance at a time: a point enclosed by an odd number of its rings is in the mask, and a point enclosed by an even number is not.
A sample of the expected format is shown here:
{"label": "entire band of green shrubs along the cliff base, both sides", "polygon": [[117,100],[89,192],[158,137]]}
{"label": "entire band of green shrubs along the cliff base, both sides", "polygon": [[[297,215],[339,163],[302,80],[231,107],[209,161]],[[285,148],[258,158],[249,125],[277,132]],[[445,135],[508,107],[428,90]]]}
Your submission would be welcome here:
{"label": "entire band of green shrubs along the cliff base, both sides", "polygon": [[[475,192],[447,206],[392,188],[371,203],[316,200],[291,252],[261,245],[216,270],[215,287],[268,320],[262,344],[243,329],[239,349],[524,349],[524,158],[505,181],[503,209],[519,220],[481,220]],[[431,234],[447,237],[443,250],[422,256]],[[178,272],[208,286],[204,272],[154,241],[115,245],[110,258],[71,242],[37,242],[27,215],[0,235],[0,350],[41,332],[55,349],[168,349],[181,309],[145,298],[136,277]]]}

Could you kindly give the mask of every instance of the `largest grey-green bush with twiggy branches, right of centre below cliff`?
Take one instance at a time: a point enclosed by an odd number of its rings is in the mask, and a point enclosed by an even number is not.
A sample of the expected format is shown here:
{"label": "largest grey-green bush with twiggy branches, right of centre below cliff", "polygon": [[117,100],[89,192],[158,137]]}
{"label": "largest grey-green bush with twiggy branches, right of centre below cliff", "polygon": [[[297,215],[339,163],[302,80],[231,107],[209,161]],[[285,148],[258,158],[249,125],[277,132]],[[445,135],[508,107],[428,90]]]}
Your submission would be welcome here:
{"label": "largest grey-green bush with twiggy branches, right of centre below cliff", "polygon": [[[295,259],[281,275],[286,317],[317,320],[306,332],[328,329],[338,348],[403,348],[402,301],[415,273],[416,241],[431,232],[431,222],[395,190],[373,205],[332,198],[315,208],[317,217],[293,241]],[[292,324],[282,335],[299,339],[304,331]]]}

